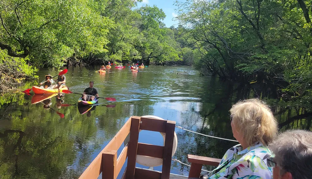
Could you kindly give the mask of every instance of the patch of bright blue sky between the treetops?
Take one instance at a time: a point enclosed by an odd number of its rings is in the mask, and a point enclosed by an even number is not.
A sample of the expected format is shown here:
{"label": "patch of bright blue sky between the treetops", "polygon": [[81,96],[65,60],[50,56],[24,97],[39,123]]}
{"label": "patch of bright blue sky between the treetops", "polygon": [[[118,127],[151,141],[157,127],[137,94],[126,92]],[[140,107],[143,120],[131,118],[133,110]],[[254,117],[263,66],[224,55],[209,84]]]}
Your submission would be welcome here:
{"label": "patch of bright blue sky between the treetops", "polygon": [[149,6],[156,5],[159,9],[163,9],[163,12],[166,14],[166,18],[163,20],[163,23],[166,24],[166,27],[170,27],[174,25],[177,27],[178,21],[174,21],[173,17],[177,16],[177,13],[174,9],[177,7],[173,5],[175,0],[143,0],[138,3],[138,8],[145,6],[146,4]]}

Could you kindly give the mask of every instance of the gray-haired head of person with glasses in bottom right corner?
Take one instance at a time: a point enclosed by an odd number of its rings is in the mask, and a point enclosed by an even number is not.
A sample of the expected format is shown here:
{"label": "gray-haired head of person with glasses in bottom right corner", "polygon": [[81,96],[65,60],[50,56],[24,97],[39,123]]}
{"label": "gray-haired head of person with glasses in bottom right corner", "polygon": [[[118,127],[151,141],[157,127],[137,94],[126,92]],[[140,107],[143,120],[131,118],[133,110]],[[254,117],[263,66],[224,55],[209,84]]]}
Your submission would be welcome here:
{"label": "gray-haired head of person with glasses in bottom right corner", "polygon": [[312,132],[286,131],[270,145],[275,154],[274,162],[280,167],[280,175],[290,172],[293,179],[312,176]]}

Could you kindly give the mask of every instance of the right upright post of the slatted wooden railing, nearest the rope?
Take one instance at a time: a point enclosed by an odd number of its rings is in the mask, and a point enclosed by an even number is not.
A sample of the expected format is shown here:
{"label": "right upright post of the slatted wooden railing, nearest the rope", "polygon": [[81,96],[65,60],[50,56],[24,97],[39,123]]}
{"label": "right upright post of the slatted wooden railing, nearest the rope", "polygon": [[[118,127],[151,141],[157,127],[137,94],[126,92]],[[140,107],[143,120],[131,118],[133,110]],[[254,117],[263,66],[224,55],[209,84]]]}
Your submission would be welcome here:
{"label": "right upright post of the slatted wooden railing, nearest the rope", "polygon": [[167,121],[167,124],[166,124],[166,137],[165,137],[165,145],[163,149],[163,167],[162,167],[161,179],[169,179],[169,176],[170,176],[175,123],[176,122],[174,121]]}

